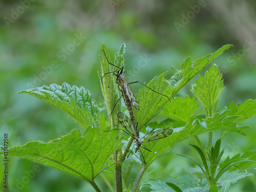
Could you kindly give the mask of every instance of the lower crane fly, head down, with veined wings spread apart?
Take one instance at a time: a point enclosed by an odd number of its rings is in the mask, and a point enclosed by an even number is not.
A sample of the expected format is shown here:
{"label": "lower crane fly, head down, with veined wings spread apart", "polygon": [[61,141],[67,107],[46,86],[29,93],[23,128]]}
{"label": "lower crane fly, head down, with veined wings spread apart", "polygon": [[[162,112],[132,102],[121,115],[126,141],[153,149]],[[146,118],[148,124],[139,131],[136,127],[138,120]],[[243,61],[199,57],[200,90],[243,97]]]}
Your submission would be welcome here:
{"label": "lower crane fly, head down, with veined wings spread apart", "polygon": [[[139,138],[139,136],[137,136],[137,133],[136,133],[136,130],[137,129],[137,126],[136,126],[136,123],[134,124],[131,119],[129,119],[126,115],[124,115],[123,113],[119,112],[117,114],[117,118],[119,120],[119,122],[121,123],[121,125],[125,128],[125,130],[128,132],[127,134],[129,134],[130,136],[133,137],[134,139],[134,145],[132,147],[132,150],[134,148],[135,145],[136,148],[135,148],[135,154],[137,153],[137,151],[139,151],[140,155],[142,156],[143,160],[140,159],[143,163],[146,164],[146,161],[143,157],[143,154],[140,150],[140,147],[142,148],[145,148],[145,150],[151,152],[150,150],[148,150],[148,148],[146,148],[143,143],[145,142],[148,142],[148,141],[154,141],[154,140],[158,140],[158,139],[163,139],[165,137],[168,137],[169,135],[171,135],[173,133],[173,130],[172,129],[161,129],[161,130],[157,130],[157,131],[154,131],[154,129],[146,134],[144,137],[142,138]],[[136,126],[136,127],[135,127]],[[154,132],[153,132],[154,131]],[[147,137],[146,137],[147,136]],[[146,138],[145,138],[146,137]],[[144,140],[143,140],[144,139]],[[131,152],[132,152],[131,150]],[[129,155],[131,154],[131,152],[129,153]],[[129,156],[128,155],[128,156]],[[128,157],[127,156],[127,157]],[[127,158],[126,157],[126,158]]]}

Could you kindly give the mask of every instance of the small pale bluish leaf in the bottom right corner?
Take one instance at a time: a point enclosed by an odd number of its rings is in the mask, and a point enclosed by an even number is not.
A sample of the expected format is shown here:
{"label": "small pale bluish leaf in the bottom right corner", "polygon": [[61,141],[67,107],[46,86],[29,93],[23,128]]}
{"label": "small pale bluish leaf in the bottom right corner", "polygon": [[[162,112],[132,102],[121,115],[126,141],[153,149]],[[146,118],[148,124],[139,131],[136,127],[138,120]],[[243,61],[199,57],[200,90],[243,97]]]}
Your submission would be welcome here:
{"label": "small pale bluish leaf in the bottom right corner", "polygon": [[[251,169],[254,170],[254,169]],[[223,183],[226,180],[230,180],[231,183],[236,183],[238,180],[243,179],[248,176],[253,176],[253,174],[250,174],[251,170],[234,170],[231,172],[230,170],[227,170],[223,173],[223,175],[219,178],[217,182],[217,186],[223,185]]]}

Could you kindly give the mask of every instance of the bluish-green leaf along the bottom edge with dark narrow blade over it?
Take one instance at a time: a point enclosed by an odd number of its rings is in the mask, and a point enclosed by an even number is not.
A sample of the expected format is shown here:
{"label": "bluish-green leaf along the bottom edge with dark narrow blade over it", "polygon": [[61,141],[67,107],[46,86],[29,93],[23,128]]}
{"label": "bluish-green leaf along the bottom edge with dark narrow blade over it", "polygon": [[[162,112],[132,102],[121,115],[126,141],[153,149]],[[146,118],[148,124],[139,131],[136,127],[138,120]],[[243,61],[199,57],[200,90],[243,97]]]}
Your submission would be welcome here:
{"label": "bluish-green leaf along the bottom edge with dark narrow blade over it", "polygon": [[[172,183],[172,185],[171,185]],[[142,183],[141,188],[150,188],[156,191],[183,191],[183,192],[201,192],[208,191],[209,187],[205,179],[202,181],[195,176],[179,175],[177,179],[172,179],[166,175],[166,179],[150,179]]]}

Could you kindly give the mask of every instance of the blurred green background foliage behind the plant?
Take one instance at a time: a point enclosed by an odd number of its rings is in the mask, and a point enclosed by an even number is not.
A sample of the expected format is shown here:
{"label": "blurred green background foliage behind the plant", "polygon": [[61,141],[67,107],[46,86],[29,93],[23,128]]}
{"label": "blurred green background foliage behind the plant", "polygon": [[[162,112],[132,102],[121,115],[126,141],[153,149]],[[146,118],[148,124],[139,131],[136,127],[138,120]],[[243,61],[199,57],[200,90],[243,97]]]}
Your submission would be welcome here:
{"label": "blurred green background foliage behind the plant", "polygon": [[[18,95],[18,91],[67,82],[89,89],[103,107],[97,75],[102,43],[113,62],[115,52],[125,42],[125,76],[130,82],[148,82],[165,71],[169,71],[169,78],[173,75],[170,67],[179,69],[188,56],[194,61],[232,44],[234,47],[214,62],[223,73],[225,86],[219,110],[230,101],[238,104],[255,99],[255,1],[21,0],[1,1],[0,9],[0,145],[4,133],[9,134],[9,146],[16,146],[29,141],[48,142],[79,128],[66,113],[33,96]],[[146,65],[140,65],[145,57]],[[197,78],[177,96],[191,97],[191,84]],[[137,93],[141,85],[131,88]],[[197,113],[203,113],[202,108]],[[227,134],[222,144],[225,157],[256,150],[254,122],[255,118],[243,122],[251,126],[246,130],[248,136]],[[214,133],[214,142],[220,135]],[[199,137],[204,140],[207,135]],[[175,145],[148,168],[148,172],[158,170],[147,179],[164,178],[165,174],[176,178],[190,172],[195,164],[175,155],[195,155],[188,143],[197,144],[191,138]],[[124,163],[124,173],[128,165]],[[39,172],[21,182],[35,167]],[[0,171],[2,175],[3,168]],[[13,187],[9,189],[17,191],[94,191],[87,182],[24,159],[10,157],[9,171],[9,187]],[[134,182],[138,172],[139,166],[135,166],[127,184]],[[255,191],[255,171],[252,174],[233,184],[230,191]],[[113,183],[111,174],[105,177]],[[103,191],[110,191],[100,176],[96,183]]]}

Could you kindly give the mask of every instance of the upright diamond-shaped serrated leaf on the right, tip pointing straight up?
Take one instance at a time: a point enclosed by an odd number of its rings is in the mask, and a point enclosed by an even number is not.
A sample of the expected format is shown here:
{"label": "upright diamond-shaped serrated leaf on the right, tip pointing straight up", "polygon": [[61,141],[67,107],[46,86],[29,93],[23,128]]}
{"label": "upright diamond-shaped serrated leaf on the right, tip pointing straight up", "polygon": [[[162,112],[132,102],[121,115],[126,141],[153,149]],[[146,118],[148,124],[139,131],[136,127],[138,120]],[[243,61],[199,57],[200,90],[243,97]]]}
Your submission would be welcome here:
{"label": "upright diamond-shaped serrated leaf on the right, tip pointing straight up", "polygon": [[192,92],[203,104],[207,117],[210,117],[217,110],[217,105],[223,91],[222,74],[215,65],[205,72],[205,77],[199,75],[200,80],[196,80],[196,86],[192,87]]}

